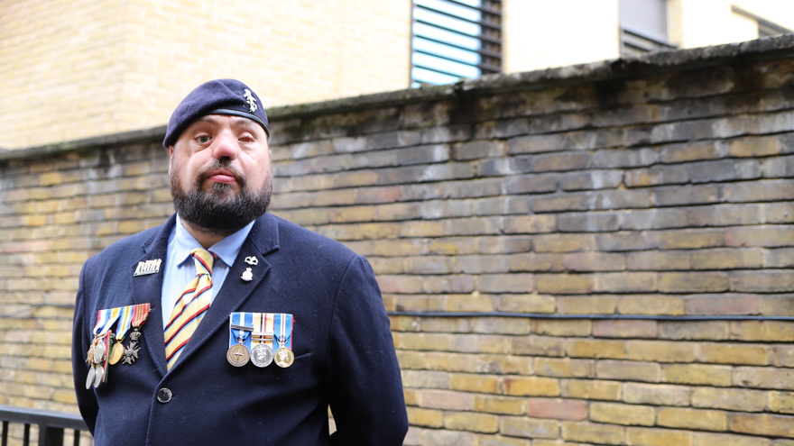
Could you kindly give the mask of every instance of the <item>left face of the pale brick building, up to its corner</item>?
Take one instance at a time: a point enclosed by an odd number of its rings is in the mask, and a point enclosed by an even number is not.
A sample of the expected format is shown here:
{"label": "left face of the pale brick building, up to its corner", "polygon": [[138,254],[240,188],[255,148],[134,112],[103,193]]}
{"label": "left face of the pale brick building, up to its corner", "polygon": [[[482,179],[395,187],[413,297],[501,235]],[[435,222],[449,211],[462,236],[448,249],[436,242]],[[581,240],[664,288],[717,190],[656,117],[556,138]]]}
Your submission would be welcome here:
{"label": "left face of the pale brick building, up to its corner", "polygon": [[0,3],[0,147],[121,130],[113,121],[123,99],[124,59],[116,59],[125,52],[122,5]]}

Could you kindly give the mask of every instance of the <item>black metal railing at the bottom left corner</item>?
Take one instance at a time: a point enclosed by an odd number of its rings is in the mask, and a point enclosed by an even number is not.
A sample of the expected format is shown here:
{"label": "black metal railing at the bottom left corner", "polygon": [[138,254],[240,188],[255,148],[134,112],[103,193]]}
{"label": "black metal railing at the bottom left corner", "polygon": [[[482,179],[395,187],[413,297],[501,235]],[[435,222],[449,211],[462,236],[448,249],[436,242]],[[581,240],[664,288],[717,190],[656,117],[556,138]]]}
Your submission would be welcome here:
{"label": "black metal railing at the bottom left corner", "polygon": [[23,445],[31,444],[31,426],[39,428],[39,446],[63,446],[65,430],[74,430],[74,445],[78,446],[80,432],[88,431],[88,426],[79,414],[56,412],[43,409],[29,409],[14,405],[0,405],[0,421],[3,422],[2,446],[7,446],[9,424],[23,424]]}

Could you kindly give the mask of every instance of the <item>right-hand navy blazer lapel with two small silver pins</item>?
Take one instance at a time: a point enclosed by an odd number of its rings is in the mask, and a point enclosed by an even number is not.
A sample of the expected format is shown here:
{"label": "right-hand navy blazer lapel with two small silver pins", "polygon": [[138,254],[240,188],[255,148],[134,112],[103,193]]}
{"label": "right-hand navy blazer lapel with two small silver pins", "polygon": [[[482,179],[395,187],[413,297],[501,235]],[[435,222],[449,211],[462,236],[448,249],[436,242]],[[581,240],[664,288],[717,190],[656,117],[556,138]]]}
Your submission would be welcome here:
{"label": "right-hand navy blazer lapel with two small silver pins", "polygon": [[[171,371],[178,369],[194,352],[201,350],[202,344],[213,336],[218,330],[223,329],[228,332],[229,315],[237,311],[241,305],[254,293],[260,286],[271,264],[264,259],[265,254],[272,250],[277,250],[278,245],[278,226],[275,219],[270,214],[264,214],[254,223],[248,238],[245,239],[240,253],[237,254],[235,264],[229,267],[223,287],[209,306],[207,314],[196,327],[196,332],[190,337],[190,341],[185,346],[185,350],[180,354],[180,359],[171,368]],[[256,259],[256,264],[251,265],[245,259]],[[251,280],[243,279],[246,269],[251,269]],[[162,325],[162,322],[161,322]],[[163,350],[163,362],[165,353]]]}

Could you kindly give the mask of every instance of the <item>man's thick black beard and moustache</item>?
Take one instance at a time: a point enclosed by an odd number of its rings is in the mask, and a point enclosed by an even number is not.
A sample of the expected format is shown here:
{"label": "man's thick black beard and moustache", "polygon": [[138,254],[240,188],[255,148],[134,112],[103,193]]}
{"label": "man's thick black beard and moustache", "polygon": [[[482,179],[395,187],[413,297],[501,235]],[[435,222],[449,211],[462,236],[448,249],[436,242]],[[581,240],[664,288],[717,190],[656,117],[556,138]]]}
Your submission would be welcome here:
{"label": "man's thick black beard and moustache", "polygon": [[215,183],[209,190],[202,190],[206,172],[214,168],[229,168],[228,162],[217,161],[215,166],[200,172],[189,193],[180,189],[180,170],[174,169],[171,175],[171,197],[181,219],[208,235],[226,237],[267,212],[272,193],[272,176],[256,195],[248,189],[247,181],[242,176],[237,176],[240,185],[238,193],[231,185],[220,183]]}

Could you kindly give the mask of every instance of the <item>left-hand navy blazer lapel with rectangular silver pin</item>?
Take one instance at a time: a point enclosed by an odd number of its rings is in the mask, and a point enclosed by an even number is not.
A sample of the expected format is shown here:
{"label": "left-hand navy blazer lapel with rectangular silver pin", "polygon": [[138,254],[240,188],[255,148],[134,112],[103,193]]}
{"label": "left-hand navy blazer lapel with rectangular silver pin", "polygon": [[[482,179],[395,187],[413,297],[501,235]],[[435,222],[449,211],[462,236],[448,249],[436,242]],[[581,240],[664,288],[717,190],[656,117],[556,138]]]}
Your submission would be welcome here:
{"label": "left-hand navy blazer lapel with rectangular silver pin", "polygon": [[162,278],[165,273],[166,255],[168,253],[168,237],[171,234],[173,225],[176,223],[176,214],[171,215],[171,219],[162,225],[161,231],[157,232],[151,239],[143,244],[143,257],[132,265],[132,270],[137,268],[138,262],[154,259],[162,259],[160,271],[145,276],[133,278],[133,303],[150,304],[151,312],[143,325],[145,333],[140,342],[141,350],[152,355],[152,360],[160,371],[165,375],[167,368],[165,362],[165,340],[162,336]]}

